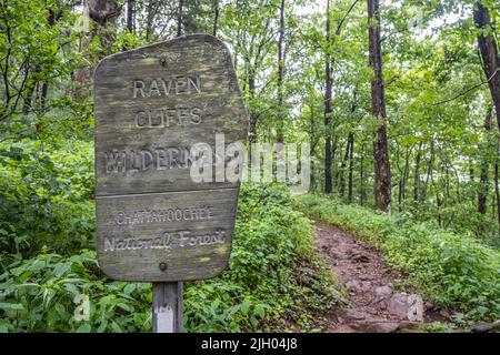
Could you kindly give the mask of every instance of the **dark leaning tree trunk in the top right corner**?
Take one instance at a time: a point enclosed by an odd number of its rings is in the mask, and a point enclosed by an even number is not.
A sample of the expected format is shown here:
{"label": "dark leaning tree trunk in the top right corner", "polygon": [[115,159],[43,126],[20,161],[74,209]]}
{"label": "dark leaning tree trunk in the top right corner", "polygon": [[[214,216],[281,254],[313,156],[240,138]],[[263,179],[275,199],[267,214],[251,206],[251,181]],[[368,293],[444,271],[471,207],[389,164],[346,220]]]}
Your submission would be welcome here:
{"label": "dark leaning tree trunk in the top right corner", "polygon": [[490,13],[481,1],[478,1],[474,6],[474,22],[477,28],[481,30],[478,36],[478,47],[497,112],[497,123],[500,126],[500,57]]}

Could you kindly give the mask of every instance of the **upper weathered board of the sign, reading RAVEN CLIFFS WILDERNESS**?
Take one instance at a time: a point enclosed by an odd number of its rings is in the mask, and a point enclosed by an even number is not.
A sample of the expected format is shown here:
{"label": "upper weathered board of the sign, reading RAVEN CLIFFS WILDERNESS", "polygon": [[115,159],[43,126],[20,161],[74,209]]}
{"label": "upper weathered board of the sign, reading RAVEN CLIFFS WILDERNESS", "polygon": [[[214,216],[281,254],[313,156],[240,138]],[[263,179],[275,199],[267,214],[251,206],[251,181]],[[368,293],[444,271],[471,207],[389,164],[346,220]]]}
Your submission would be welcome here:
{"label": "upper weathered board of the sign, reading RAVEN CLIFFS WILDERNESS", "polygon": [[[182,81],[190,77],[200,78],[201,92],[174,94],[170,91],[169,95],[133,98],[134,81],[140,80],[150,88],[148,83],[157,79],[163,90],[160,79],[181,78]],[[173,110],[183,110],[183,116],[186,110],[193,108],[199,109],[197,112],[201,116],[197,124],[186,123],[184,119],[181,120],[184,124],[172,122],[168,128],[137,126],[136,123],[138,112],[140,119],[151,112],[154,121],[161,112],[172,118],[177,115]],[[104,168],[104,154],[112,151],[153,153],[158,149],[184,149],[198,142],[213,146],[216,133],[224,134],[226,144],[246,139],[248,119],[231,57],[216,38],[188,36],[107,57],[96,69],[94,114],[97,195],[237,186],[231,182],[192,183],[188,168],[150,169],[140,173],[132,170],[107,173]]]}

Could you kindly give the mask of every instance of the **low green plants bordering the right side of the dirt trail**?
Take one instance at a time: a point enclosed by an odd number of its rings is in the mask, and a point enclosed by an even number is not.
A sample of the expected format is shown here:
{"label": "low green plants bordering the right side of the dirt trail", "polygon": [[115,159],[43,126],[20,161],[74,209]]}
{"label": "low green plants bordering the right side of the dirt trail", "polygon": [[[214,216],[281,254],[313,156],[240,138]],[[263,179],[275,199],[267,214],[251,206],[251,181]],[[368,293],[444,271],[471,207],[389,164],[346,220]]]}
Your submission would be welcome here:
{"label": "low green plants bordering the right side of the dirt trail", "polygon": [[298,197],[311,216],[354,232],[379,247],[387,262],[437,304],[458,307],[468,320],[500,317],[500,253],[406,215],[389,215],[316,195]]}

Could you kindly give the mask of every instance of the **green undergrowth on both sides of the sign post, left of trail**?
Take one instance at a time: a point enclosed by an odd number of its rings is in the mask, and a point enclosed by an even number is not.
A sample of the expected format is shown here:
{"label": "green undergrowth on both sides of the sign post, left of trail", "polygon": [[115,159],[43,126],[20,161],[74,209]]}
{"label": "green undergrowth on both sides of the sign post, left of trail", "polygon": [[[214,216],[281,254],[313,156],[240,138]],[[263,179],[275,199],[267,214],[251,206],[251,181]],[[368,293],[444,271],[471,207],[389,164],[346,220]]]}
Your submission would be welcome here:
{"label": "green undergrowth on both sides of the sign post, left of trail", "polygon": [[[99,268],[92,146],[74,143],[0,150],[0,331],[150,332],[151,284]],[[288,190],[243,184],[229,268],[186,283],[186,329],[314,331],[338,295],[326,270]]]}

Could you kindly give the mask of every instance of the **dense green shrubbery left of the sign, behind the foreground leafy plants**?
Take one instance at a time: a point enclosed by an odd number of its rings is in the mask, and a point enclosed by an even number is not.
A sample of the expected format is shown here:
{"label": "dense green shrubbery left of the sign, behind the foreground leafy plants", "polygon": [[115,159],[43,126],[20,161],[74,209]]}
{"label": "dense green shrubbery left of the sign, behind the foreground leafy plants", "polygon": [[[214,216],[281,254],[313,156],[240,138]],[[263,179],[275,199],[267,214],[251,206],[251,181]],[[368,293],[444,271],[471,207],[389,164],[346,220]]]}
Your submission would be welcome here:
{"label": "dense green shrubbery left of the sign, behind the foreground leafy plants", "polygon": [[68,253],[92,245],[91,153],[79,141],[59,150],[37,141],[0,145],[1,253],[29,257],[44,244]]}

